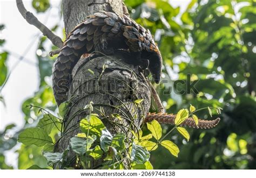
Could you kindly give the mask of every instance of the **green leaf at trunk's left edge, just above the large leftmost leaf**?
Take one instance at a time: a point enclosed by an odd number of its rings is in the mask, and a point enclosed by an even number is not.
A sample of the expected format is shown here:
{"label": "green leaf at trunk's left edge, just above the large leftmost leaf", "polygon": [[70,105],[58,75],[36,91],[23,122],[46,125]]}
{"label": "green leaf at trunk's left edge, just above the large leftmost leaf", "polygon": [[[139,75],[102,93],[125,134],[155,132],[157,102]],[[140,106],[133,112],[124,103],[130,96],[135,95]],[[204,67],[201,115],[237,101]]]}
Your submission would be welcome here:
{"label": "green leaf at trunk's left edge, just above the large leftmost leaf", "polygon": [[60,123],[58,122],[58,119],[55,116],[51,114],[45,114],[43,118],[39,120],[37,127],[43,129],[47,134],[50,134],[53,127],[57,127],[59,125]]}

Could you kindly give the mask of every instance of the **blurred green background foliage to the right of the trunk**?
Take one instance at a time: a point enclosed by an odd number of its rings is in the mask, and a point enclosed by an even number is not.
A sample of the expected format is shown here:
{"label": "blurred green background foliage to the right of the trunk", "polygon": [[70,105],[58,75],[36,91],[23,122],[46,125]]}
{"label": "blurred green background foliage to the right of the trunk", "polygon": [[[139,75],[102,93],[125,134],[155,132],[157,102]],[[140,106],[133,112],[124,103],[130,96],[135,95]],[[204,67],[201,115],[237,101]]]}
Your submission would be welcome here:
{"label": "blurred green background foliage to the right of the trunk", "polygon": [[[191,1],[185,12],[163,1],[125,3],[138,23],[158,34],[164,59],[158,93],[167,112],[190,104],[223,108],[215,129],[190,131],[189,143],[171,137],[177,146],[186,143],[177,159],[158,159],[167,154],[161,148],[152,153],[154,168],[255,169],[255,1]],[[193,83],[196,90],[187,88]],[[215,118],[220,110],[209,111]]]}

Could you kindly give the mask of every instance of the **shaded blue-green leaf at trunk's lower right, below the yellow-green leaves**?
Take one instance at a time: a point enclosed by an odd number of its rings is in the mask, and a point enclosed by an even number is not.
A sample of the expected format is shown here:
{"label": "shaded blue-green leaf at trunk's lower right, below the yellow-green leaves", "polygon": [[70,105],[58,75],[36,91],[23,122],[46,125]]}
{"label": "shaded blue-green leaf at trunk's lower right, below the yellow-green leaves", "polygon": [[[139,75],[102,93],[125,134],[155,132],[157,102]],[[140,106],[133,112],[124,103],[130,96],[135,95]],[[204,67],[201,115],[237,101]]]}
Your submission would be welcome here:
{"label": "shaded blue-green leaf at trunk's lower right, below the yellow-green leaves", "polygon": [[132,143],[131,159],[132,162],[143,164],[149,161],[150,153],[142,146]]}

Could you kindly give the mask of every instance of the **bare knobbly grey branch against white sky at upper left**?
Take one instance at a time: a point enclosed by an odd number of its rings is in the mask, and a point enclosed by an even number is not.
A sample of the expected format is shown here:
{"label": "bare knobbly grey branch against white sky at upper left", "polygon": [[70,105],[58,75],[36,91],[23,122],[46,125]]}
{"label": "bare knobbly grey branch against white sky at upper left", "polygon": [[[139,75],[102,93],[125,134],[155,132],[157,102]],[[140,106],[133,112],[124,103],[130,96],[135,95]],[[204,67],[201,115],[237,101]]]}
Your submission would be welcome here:
{"label": "bare knobbly grey branch against white sky at upper left", "polygon": [[63,46],[62,39],[60,37],[58,37],[57,35],[55,35],[54,33],[52,33],[52,31],[49,30],[48,27],[46,27],[44,24],[39,22],[39,20],[33,15],[33,13],[27,11],[25,9],[25,6],[24,6],[22,0],[16,0],[16,4],[17,4],[17,8],[18,8],[19,12],[24,17],[26,22],[37,27],[37,29],[39,29],[52,42],[53,45],[55,45],[59,48],[62,48],[62,46]]}

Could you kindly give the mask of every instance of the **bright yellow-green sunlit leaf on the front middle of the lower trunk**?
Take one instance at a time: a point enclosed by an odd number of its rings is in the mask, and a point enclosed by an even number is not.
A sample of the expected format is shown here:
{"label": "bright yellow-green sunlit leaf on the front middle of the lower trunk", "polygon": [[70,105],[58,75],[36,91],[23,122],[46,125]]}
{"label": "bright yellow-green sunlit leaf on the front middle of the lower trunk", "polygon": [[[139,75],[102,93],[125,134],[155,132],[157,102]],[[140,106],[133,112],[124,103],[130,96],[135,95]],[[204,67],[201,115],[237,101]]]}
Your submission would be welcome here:
{"label": "bright yellow-green sunlit leaf on the front middle of the lower trunk", "polygon": [[80,130],[86,134],[87,131],[90,130],[90,133],[100,137],[103,129],[105,129],[105,125],[102,120],[95,115],[91,115],[89,119],[82,119],[80,121]]}

